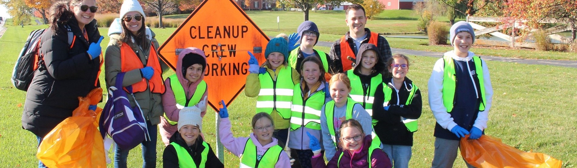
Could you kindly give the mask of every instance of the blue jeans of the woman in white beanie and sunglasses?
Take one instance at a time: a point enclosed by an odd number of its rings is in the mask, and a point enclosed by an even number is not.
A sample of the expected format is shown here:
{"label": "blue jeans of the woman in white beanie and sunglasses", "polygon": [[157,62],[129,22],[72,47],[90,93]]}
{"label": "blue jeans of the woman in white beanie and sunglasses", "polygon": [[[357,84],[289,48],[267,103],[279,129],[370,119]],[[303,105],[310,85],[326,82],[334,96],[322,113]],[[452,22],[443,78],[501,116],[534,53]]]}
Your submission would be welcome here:
{"label": "blue jeans of the woman in white beanie and sunglasses", "polygon": [[[143,151],[143,167],[156,167],[156,139],[158,138],[158,127],[156,125],[150,124],[147,121],[148,133],[150,135],[151,141],[144,141],[141,143]],[[128,152],[130,150],[121,150],[118,146],[114,149],[114,167],[115,168],[125,168],[126,159],[128,158]]]}

